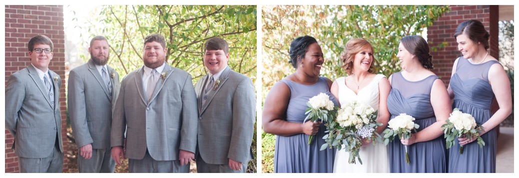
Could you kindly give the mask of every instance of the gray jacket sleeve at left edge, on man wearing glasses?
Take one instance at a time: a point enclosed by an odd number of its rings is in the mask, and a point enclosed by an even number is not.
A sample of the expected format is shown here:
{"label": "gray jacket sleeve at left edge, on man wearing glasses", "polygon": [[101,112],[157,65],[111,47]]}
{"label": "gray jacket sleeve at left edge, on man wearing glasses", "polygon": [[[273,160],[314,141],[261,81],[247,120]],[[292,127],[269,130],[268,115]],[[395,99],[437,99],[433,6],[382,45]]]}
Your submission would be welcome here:
{"label": "gray jacket sleeve at left edge, on man wearing glasses", "polygon": [[[37,88],[35,88],[37,90]],[[5,88],[5,128],[16,137],[18,112],[25,98],[25,85],[16,75],[11,75]]]}

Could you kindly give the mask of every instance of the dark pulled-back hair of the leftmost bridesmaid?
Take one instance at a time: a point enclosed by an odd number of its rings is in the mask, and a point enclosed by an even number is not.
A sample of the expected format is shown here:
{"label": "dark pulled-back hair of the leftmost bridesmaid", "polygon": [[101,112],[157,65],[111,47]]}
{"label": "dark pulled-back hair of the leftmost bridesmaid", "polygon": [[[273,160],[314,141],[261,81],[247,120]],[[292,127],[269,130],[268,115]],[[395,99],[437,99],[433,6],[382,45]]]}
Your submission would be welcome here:
{"label": "dark pulled-back hair of the leftmost bridesmaid", "polygon": [[[290,43],[289,55],[290,55],[290,63],[292,66],[297,69],[297,61],[303,59],[305,57],[305,53],[308,51],[308,46],[311,44],[317,43],[316,38],[305,35],[299,36],[295,38],[292,43]],[[297,58],[299,57],[299,58]]]}

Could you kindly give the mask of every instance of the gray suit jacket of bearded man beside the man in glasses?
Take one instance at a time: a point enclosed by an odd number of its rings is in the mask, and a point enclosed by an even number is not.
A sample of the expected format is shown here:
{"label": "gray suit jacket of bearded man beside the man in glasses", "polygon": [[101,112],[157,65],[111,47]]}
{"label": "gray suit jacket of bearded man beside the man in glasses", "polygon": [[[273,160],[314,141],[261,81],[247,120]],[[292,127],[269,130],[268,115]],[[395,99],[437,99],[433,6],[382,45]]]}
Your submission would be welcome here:
{"label": "gray suit jacket of bearded man beside the man in glasses", "polygon": [[93,149],[110,148],[112,111],[120,84],[119,74],[109,66],[106,68],[112,81],[112,96],[91,59],[70,71],[67,104],[78,148],[87,144],[92,144]]}

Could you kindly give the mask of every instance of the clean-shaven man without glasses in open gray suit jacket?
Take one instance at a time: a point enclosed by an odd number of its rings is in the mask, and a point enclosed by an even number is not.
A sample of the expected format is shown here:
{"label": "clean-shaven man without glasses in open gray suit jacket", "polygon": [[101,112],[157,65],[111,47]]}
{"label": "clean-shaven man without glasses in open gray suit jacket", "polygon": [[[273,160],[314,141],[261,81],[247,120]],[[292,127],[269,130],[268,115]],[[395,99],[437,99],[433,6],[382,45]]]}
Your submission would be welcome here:
{"label": "clean-shaven man without glasses in open gray suit jacket", "polygon": [[229,46],[207,40],[203,64],[209,74],[197,81],[198,156],[202,173],[243,173],[252,155],[256,97],[252,80],[227,66]]}

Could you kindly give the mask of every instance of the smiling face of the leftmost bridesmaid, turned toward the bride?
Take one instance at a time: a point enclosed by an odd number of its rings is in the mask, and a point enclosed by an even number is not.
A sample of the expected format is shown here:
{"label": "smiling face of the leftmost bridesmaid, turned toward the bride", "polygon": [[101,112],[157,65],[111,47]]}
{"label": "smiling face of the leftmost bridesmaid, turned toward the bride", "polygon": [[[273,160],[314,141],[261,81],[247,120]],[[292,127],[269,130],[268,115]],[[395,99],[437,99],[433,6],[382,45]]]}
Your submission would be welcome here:
{"label": "smiling face of the leftmost bridesmaid, turned toward the bride", "polygon": [[319,76],[322,64],[324,63],[323,55],[323,51],[319,44],[313,43],[308,46],[308,50],[306,51],[304,58],[301,60],[301,65],[303,65],[301,68],[307,75]]}

